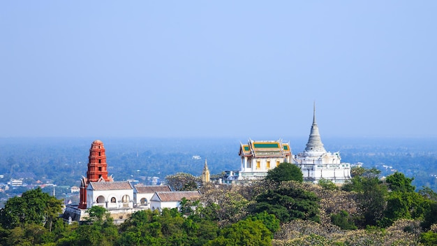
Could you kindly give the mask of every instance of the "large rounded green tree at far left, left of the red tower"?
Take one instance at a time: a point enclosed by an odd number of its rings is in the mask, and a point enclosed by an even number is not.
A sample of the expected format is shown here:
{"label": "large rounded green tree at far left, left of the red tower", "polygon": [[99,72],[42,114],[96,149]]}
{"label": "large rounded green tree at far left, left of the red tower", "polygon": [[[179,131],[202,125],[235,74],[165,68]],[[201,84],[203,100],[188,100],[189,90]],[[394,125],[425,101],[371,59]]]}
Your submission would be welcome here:
{"label": "large rounded green tree at far left, left of the red tower", "polygon": [[61,212],[62,201],[44,193],[39,187],[22,194],[21,197],[10,198],[0,210],[0,223],[3,228],[12,229],[24,224],[48,223]]}

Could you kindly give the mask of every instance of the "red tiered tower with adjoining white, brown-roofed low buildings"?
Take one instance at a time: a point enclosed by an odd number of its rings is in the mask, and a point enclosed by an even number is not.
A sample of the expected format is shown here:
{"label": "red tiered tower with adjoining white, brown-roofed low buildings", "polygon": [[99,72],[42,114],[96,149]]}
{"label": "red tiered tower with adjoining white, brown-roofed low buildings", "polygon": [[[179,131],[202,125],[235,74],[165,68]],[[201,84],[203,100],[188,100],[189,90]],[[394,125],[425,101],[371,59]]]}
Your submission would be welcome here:
{"label": "red tiered tower with adjoining white, brown-roofed low buildings", "polygon": [[92,206],[105,208],[114,222],[123,222],[133,212],[178,208],[182,197],[195,199],[200,196],[199,191],[171,191],[168,185],[134,186],[128,181],[114,181],[112,176],[108,176],[105,147],[101,140],[91,143],[87,177],[80,181],[79,205],[67,205],[62,215],[66,222],[83,221]]}

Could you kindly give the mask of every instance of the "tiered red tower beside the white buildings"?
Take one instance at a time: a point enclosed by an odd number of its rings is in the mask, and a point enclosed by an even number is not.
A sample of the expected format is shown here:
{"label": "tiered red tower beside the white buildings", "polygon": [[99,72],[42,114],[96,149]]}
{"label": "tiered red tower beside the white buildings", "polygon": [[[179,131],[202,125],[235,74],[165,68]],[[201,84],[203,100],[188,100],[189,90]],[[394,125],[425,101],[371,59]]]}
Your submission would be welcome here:
{"label": "tiered red tower beside the white buildings", "polygon": [[89,182],[109,182],[112,177],[108,177],[108,164],[106,164],[105,147],[101,140],[91,143],[88,157],[87,178],[82,177],[80,184],[80,202],[78,208],[87,208],[87,187]]}

